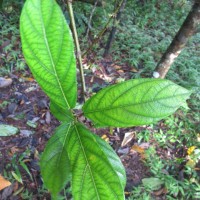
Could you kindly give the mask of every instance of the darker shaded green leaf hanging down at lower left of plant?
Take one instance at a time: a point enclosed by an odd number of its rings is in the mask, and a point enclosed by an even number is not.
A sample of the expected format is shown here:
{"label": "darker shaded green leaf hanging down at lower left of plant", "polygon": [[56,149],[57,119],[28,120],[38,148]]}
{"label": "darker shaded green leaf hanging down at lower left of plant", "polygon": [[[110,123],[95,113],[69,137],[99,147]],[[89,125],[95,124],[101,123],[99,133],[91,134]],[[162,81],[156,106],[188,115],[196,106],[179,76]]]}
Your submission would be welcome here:
{"label": "darker shaded green leaf hanging down at lower left of plant", "polygon": [[67,137],[70,128],[69,123],[64,123],[56,129],[40,160],[44,184],[54,197],[63,189],[71,175],[67,154]]}

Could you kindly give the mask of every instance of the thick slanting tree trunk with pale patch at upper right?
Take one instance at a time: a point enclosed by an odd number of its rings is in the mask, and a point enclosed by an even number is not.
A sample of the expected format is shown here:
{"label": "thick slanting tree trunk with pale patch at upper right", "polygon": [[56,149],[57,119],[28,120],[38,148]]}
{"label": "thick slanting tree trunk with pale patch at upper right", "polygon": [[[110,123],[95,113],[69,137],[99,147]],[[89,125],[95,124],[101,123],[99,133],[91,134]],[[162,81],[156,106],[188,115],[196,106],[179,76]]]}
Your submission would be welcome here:
{"label": "thick slanting tree trunk with pale patch at upper right", "polygon": [[198,24],[200,24],[200,0],[195,1],[183,25],[156,66],[153,72],[154,78],[165,78],[174,60],[181,53],[189,38],[195,34]]}

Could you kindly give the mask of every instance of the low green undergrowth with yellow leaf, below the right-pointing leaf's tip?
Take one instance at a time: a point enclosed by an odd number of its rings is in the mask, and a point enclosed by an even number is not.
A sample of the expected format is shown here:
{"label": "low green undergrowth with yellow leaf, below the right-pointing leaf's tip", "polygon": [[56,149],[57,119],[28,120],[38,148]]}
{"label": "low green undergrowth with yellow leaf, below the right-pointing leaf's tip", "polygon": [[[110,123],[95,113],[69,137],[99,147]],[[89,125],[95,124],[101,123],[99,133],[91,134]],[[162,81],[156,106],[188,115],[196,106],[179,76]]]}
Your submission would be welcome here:
{"label": "low green undergrowth with yellow leaf, below the right-pointing leaf's tip", "polygon": [[151,200],[160,195],[164,199],[199,199],[200,127],[192,116],[186,116],[186,111],[180,111],[164,120],[162,129],[154,127],[151,133],[137,134],[140,143],[152,144],[145,151],[144,163],[150,176],[162,182],[156,189],[144,183],[133,187],[129,200]]}

